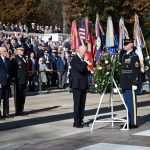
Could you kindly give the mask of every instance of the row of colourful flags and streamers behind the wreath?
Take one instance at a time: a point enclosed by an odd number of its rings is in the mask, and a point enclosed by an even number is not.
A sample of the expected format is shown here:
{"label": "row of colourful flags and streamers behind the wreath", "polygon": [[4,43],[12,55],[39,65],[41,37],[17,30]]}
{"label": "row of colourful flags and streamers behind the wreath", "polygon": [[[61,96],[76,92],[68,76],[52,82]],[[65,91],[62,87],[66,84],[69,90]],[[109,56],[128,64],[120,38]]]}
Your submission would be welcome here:
{"label": "row of colourful flags and streamers behind the wreath", "polygon": [[[146,47],[145,40],[142,34],[142,30],[139,24],[139,18],[135,14],[135,23],[134,23],[134,45],[137,47],[136,53],[139,56],[140,61],[142,62],[143,53],[142,48]],[[99,15],[96,14],[95,22],[95,35],[96,39],[94,40],[88,17],[82,19],[77,26],[77,22],[72,22],[71,27],[71,37],[72,37],[72,50],[78,49],[81,45],[87,46],[88,59],[91,65],[88,66],[91,72],[94,71],[93,62],[99,61],[101,57],[101,52],[104,48],[108,49],[109,54],[115,55],[117,49],[123,49],[124,39],[129,39],[128,31],[124,24],[124,19],[121,17],[119,21],[119,40],[118,36],[115,33],[113,21],[111,16],[107,19],[107,30],[106,36],[103,31],[103,28],[100,24]],[[148,55],[148,53],[147,53]]]}

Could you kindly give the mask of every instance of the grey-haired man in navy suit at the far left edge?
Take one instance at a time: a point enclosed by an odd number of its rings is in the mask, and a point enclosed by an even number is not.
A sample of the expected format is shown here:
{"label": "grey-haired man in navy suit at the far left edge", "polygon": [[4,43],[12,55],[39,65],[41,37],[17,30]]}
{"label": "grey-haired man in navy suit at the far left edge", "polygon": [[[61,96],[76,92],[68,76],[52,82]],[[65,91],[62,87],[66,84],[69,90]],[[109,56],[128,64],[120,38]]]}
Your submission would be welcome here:
{"label": "grey-haired man in navy suit at the far left edge", "polygon": [[3,117],[0,111],[0,118],[9,118],[9,60],[6,58],[7,49],[0,47],[0,105],[3,99]]}

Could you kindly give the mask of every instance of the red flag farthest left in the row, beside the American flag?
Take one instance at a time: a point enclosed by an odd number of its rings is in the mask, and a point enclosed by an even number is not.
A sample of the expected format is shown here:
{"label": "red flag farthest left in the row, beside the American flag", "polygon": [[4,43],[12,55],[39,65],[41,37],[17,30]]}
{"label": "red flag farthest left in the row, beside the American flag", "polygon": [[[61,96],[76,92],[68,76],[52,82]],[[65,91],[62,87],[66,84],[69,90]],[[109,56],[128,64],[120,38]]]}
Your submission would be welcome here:
{"label": "red flag farthest left in the row, beside the American flag", "polygon": [[77,24],[76,21],[72,22],[71,27],[71,39],[72,39],[72,50],[79,48],[79,40],[78,40],[78,32],[77,32]]}

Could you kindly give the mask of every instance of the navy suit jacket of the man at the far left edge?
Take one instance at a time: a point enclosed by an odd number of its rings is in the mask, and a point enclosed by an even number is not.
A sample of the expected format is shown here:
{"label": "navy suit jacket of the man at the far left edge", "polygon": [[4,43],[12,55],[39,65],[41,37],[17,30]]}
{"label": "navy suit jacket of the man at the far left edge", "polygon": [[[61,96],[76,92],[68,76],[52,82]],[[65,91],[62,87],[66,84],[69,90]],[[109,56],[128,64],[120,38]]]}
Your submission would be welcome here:
{"label": "navy suit jacket of the man at the far left edge", "polygon": [[0,56],[0,84],[6,85],[9,81],[9,60],[5,58],[6,60],[6,65],[3,62],[2,57]]}

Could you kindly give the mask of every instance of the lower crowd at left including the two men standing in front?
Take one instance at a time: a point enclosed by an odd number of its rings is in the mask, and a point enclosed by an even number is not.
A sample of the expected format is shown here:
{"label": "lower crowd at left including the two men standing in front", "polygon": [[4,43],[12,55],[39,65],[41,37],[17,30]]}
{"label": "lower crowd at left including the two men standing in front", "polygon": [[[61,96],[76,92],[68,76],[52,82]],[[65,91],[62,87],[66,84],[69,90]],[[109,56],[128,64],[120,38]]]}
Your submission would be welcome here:
{"label": "lower crowd at left including the two men standing in front", "polygon": [[15,113],[19,116],[26,115],[24,104],[27,89],[33,92],[40,87],[40,90],[68,87],[73,56],[69,38],[63,40],[61,37],[55,42],[50,37],[45,42],[19,32],[7,38],[0,32],[0,48],[0,100],[3,99],[0,119],[9,117],[11,86],[15,93]]}

